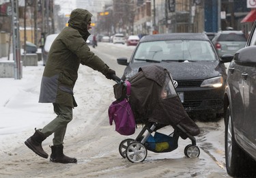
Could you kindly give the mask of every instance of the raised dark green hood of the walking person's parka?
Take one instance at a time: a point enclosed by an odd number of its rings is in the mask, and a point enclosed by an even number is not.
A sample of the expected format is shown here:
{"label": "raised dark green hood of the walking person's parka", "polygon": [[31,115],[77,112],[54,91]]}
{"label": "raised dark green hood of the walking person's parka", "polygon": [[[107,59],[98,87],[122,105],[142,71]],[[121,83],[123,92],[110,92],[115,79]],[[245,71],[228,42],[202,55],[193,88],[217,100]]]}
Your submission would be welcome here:
{"label": "raised dark green hood of the walking person's parka", "polygon": [[84,39],[87,39],[90,35],[87,30],[87,23],[91,19],[92,14],[84,9],[72,10],[70,14],[70,20],[68,21],[68,26],[77,29]]}

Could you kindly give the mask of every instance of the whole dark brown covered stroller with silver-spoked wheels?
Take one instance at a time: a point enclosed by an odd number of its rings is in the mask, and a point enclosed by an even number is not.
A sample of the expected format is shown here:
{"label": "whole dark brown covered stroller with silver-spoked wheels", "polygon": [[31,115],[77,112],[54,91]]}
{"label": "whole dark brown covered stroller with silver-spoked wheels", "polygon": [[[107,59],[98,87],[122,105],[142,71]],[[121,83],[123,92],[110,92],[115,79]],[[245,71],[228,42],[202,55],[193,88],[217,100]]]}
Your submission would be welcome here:
{"label": "whole dark brown covered stroller with silver-spoked wheels", "polygon": [[[117,76],[113,76],[115,99],[126,98],[126,85]],[[179,96],[173,86],[169,72],[158,65],[145,65],[139,72],[128,79],[131,85],[129,103],[136,123],[142,123],[143,129],[137,138],[127,138],[119,144],[119,153],[130,162],[143,162],[147,150],[155,153],[170,152],[178,147],[178,139],[189,138],[191,144],[184,149],[188,158],[196,158],[200,154],[194,136],[200,130],[196,123],[188,117]],[[173,127],[169,135],[158,132],[167,125]],[[154,136],[153,136],[154,134]]]}

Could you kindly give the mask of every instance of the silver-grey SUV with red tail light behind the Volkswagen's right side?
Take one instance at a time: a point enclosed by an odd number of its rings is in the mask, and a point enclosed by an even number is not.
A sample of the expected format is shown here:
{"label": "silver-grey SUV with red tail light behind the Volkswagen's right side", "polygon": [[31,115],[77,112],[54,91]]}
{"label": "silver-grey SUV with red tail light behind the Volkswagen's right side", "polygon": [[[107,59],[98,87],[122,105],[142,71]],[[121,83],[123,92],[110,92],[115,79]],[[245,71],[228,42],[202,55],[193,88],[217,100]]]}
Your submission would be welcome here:
{"label": "silver-grey SUV with red tail light behind the Volkswagen's right side", "polygon": [[235,55],[236,51],[244,48],[246,37],[242,31],[219,31],[212,39],[212,43],[219,57],[226,54]]}

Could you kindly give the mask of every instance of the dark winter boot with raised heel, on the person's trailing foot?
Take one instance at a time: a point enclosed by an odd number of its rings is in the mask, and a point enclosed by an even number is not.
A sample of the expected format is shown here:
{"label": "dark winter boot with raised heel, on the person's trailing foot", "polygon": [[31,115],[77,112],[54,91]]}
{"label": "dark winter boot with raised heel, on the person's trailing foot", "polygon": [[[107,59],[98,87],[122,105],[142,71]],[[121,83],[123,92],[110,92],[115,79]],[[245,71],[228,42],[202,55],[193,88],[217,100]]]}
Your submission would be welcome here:
{"label": "dark winter boot with raised heel, on the person's trailing foot", "polygon": [[35,133],[25,141],[25,145],[42,158],[48,158],[48,154],[42,149],[42,141],[46,138],[47,136],[35,130]]}

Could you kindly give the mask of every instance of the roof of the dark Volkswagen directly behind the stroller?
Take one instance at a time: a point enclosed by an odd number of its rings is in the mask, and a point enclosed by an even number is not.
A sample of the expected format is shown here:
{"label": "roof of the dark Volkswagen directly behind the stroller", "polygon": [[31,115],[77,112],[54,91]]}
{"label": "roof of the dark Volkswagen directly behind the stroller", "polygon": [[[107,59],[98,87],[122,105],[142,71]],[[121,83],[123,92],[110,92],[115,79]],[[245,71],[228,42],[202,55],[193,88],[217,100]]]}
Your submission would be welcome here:
{"label": "roof of the dark Volkswagen directly behind the stroller", "polygon": [[145,35],[140,42],[152,42],[162,40],[206,40],[209,38],[205,33],[161,33],[155,35]]}

